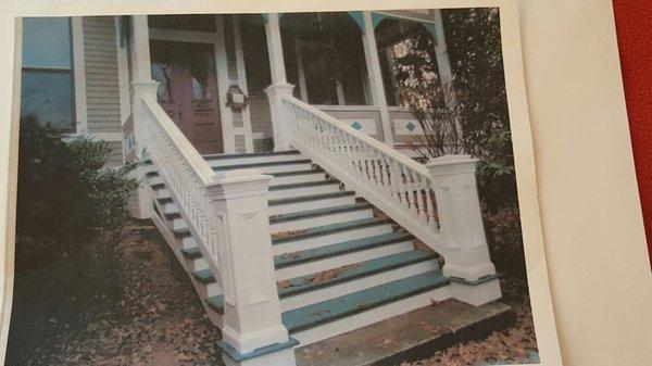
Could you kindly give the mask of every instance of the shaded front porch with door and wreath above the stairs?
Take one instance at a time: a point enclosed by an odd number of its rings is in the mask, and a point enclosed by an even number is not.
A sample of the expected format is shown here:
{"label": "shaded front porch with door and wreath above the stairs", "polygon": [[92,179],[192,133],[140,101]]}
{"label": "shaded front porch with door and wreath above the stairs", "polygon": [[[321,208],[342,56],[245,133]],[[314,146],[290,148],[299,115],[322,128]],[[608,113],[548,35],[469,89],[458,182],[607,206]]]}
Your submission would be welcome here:
{"label": "shaded front porch with door and wreath above the stairs", "polygon": [[[118,53],[128,59],[121,73],[129,84],[159,83],[159,103],[200,153],[286,149],[268,99],[289,93],[413,154],[409,144],[423,130],[402,100],[397,66],[418,39],[430,77],[451,81],[440,17],[437,10],[121,17]],[[129,139],[131,126],[124,129]]]}

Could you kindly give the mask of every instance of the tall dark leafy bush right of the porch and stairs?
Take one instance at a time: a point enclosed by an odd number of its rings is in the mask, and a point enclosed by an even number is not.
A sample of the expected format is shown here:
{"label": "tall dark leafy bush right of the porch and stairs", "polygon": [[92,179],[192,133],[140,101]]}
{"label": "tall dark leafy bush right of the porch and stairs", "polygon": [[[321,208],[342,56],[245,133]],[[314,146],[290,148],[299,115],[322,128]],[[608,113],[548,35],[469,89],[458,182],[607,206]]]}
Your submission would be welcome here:
{"label": "tall dark leafy bush right of the porch and stairs", "polygon": [[[442,11],[447,49],[453,71],[452,85],[422,79],[435,70],[423,58],[429,42],[416,36],[410,56],[399,60],[398,77],[406,101],[426,132],[425,147],[416,148],[425,159],[446,152],[441,144],[451,141],[480,160],[478,190],[492,258],[499,270],[525,277],[523,239],[516,194],[516,175],[507,96],[505,90],[500,13],[497,8],[451,9]],[[419,49],[422,48],[422,49]],[[415,61],[417,60],[417,61]],[[462,127],[453,131],[449,121],[437,117],[442,100]],[[448,136],[440,136],[441,132]],[[439,135],[438,135],[439,134]],[[417,147],[415,144],[415,147]],[[451,150],[450,148],[448,150]]]}

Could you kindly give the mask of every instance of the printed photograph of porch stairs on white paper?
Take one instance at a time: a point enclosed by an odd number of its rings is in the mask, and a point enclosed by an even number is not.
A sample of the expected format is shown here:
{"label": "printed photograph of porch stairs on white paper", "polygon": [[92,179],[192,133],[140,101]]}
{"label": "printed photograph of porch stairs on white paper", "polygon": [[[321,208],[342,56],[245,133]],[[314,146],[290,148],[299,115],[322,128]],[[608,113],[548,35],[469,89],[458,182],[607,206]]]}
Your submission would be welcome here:
{"label": "printed photograph of porch stairs on white paper", "polygon": [[5,365],[540,363],[500,8],[18,22]]}

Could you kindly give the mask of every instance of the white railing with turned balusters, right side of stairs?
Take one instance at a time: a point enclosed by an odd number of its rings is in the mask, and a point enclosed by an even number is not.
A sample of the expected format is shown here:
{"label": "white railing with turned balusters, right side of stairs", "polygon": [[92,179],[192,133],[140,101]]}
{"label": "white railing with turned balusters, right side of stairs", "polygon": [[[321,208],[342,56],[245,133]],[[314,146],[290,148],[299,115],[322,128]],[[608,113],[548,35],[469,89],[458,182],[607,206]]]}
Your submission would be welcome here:
{"label": "white railing with turned balusters, right side of stairs", "polygon": [[425,165],[291,96],[280,103],[292,147],[446,256]]}

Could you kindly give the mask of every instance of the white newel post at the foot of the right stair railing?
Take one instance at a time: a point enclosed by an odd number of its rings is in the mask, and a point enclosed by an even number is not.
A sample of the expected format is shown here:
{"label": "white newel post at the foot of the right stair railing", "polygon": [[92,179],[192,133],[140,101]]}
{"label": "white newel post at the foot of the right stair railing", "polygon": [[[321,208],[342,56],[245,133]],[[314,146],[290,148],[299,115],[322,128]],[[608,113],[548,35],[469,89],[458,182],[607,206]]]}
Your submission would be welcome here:
{"label": "white newel post at the foot of the right stair railing", "polygon": [[444,155],[427,164],[440,232],[448,248],[443,274],[451,279],[453,298],[472,305],[501,298],[482,225],[477,163],[468,155]]}

